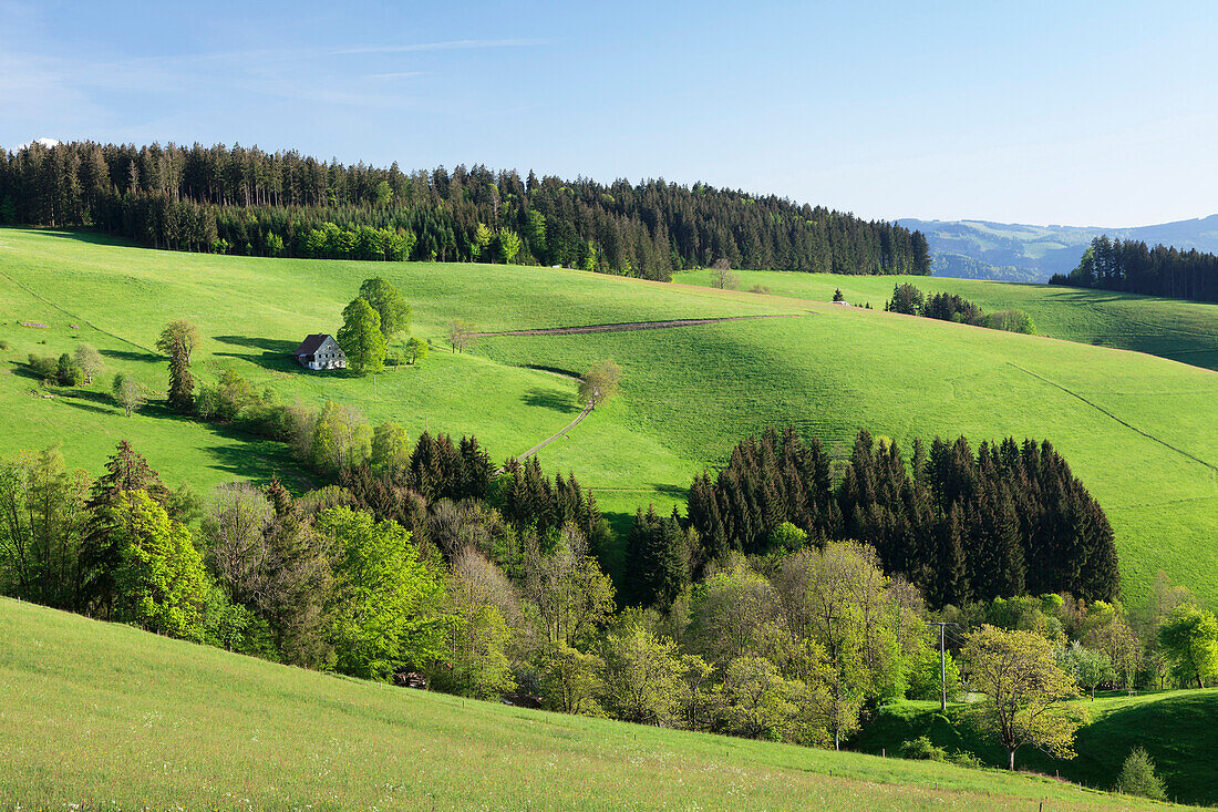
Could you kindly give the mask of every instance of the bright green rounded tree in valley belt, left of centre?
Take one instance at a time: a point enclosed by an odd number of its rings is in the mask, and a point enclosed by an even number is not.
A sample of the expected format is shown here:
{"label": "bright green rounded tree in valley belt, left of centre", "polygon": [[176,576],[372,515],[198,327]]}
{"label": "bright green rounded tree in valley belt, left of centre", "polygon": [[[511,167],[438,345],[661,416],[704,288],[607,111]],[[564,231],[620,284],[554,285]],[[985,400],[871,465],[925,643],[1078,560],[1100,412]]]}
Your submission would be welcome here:
{"label": "bright green rounded tree in valley belt, left of centre", "polygon": [[323,511],[318,530],[335,550],[326,607],[339,671],[385,679],[425,667],[445,650],[445,591],[397,522],[346,507]]}

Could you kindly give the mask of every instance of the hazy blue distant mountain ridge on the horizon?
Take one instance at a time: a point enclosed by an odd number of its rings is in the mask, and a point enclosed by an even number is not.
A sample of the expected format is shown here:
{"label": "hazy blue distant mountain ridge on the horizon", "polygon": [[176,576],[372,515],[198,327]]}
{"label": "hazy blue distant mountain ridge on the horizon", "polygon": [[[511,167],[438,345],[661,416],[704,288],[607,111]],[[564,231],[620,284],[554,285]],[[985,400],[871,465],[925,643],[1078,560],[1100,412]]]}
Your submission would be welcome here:
{"label": "hazy blue distant mountain ridge on the horizon", "polygon": [[926,235],[931,246],[931,272],[937,277],[1047,282],[1055,273],[1073,271],[1086,246],[1101,234],[1141,240],[1147,246],[1162,243],[1185,251],[1218,252],[1218,215],[1133,228],[912,217],[896,223]]}

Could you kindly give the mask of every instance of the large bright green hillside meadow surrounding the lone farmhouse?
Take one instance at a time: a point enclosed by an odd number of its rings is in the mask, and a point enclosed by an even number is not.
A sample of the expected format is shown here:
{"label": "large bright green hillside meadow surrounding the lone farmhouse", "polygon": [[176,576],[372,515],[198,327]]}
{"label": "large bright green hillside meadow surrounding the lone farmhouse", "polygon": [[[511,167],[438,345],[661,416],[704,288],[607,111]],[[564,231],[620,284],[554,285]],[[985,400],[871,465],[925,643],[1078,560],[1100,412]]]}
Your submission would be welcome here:
{"label": "large bright green hillside meadow surrounding the lone farmhouse", "polygon": [[[725,462],[739,438],[769,424],[794,423],[842,452],[859,428],[900,443],[960,433],[974,441],[1049,438],[1112,518],[1129,599],[1140,600],[1160,568],[1218,599],[1218,374],[1208,369],[833,307],[828,295],[795,301],[549,268],[216,257],[5,229],[0,274],[0,339],[11,344],[0,352],[0,368],[10,373],[0,374],[0,451],[60,440],[69,463],[96,472],[114,441],[129,436],[171,485],[189,478],[206,489],[234,475],[268,475],[283,462],[273,444],[155,408],[127,419],[96,385],[44,399],[16,363],[30,351],[71,350],[79,335],[107,354],[111,372],[128,369],[162,389],[164,361],[147,347],[173,317],[200,324],[196,363],[205,376],[231,366],[286,400],[333,397],[373,421],[396,419],[412,436],[425,426],[475,433],[497,460],[558,432],[579,411],[570,380],[530,366],[577,373],[613,357],[625,369],[620,396],[551,444],[543,462],[574,469],[619,521],[648,501],[670,510],[695,472]],[[373,274],[402,288],[414,302],[415,332],[436,341],[454,317],[487,332],[794,317],[485,338],[474,354],[434,352],[375,384],[296,367],[286,354],[306,333],[336,330],[342,306]],[[887,293],[893,284],[831,282],[855,299],[850,285]],[[771,288],[778,293],[780,285]],[[877,295],[873,304],[881,301]]]}

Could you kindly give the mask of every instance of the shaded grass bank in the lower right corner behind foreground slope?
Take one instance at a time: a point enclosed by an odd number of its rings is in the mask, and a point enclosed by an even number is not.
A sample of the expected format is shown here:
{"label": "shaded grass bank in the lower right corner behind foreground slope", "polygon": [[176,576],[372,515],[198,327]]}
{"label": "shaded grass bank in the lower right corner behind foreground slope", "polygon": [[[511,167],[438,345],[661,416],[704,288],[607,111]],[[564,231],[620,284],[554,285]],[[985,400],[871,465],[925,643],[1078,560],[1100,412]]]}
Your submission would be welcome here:
{"label": "shaded grass bank in the lower right corner behind foreground slope", "polygon": [[[1112,786],[1125,756],[1142,746],[1155,760],[1156,772],[1167,784],[1168,797],[1189,803],[1218,803],[1218,766],[1202,753],[1218,751],[1218,689],[1203,691],[1152,691],[1140,696],[1099,695],[1082,700],[1091,722],[1079,730],[1078,757],[1054,761],[1033,749],[1019,751],[1018,761],[1037,772],[1054,774],[1089,786]],[[938,702],[896,702],[881,712],[853,743],[864,752],[896,752],[903,741],[927,735],[949,750],[967,750],[987,763],[1006,763],[1006,752],[979,736],[965,721],[966,706],[951,705],[940,714]]]}

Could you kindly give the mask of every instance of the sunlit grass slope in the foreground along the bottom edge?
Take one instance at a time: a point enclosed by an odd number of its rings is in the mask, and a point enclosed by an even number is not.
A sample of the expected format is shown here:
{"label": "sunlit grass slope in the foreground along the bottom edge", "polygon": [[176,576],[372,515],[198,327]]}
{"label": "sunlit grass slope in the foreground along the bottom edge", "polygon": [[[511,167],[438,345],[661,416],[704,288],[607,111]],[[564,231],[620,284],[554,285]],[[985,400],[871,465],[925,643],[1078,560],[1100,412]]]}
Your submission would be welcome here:
{"label": "sunlit grass slope in the foreground along the bottom edge", "polygon": [[77,805],[1163,808],[1001,771],[393,689],[0,600],[0,806]]}

